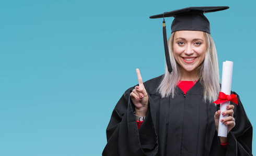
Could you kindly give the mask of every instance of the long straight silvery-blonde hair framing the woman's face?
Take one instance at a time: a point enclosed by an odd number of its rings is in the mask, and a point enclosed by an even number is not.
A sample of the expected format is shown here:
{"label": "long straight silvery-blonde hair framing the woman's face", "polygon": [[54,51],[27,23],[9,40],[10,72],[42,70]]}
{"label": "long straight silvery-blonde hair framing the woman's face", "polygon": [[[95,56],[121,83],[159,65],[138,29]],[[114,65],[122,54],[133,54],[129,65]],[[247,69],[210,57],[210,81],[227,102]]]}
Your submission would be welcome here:
{"label": "long straight silvery-blonde hair framing the woman's face", "polygon": [[[181,79],[181,69],[173,56],[173,32],[168,40],[169,56],[171,60],[172,73],[168,72],[167,66],[165,69],[165,75],[158,87],[158,92],[161,97],[168,97],[172,95],[174,97],[177,83]],[[218,57],[217,50],[210,34],[204,32],[206,41],[206,54],[202,64],[196,68],[197,77],[200,79],[200,83],[204,87],[204,101],[214,101],[218,98],[220,91],[219,86],[219,69],[218,69]]]}

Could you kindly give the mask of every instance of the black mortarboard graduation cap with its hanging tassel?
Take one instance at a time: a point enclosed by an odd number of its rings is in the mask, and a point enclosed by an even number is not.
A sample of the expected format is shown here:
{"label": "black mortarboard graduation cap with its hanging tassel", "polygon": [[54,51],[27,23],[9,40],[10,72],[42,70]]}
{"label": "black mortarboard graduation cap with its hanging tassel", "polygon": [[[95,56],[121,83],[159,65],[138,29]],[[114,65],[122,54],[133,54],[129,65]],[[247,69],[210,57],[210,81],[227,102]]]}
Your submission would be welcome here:
{"label": "black mortarboard graduation cap with its hanging tassel", "polygon": [[193,30],[193,31],[203,31],[211,33],[210,22],[204,16],[205,13],[215,12],[228,9],[228,6],[218,6],[218,7],[188,7],[179,10],[173,10],[170,12],[164,12],[164,14],[150,16],[149,18],[164,18],[162,21],[162,33],[164,35],[164,46],[165,46],[165,58],[169,73],[172,72],[169,50],[166,37],[166,26],[165,17],[174,17],[171,23],[171,32],[180,30]]}

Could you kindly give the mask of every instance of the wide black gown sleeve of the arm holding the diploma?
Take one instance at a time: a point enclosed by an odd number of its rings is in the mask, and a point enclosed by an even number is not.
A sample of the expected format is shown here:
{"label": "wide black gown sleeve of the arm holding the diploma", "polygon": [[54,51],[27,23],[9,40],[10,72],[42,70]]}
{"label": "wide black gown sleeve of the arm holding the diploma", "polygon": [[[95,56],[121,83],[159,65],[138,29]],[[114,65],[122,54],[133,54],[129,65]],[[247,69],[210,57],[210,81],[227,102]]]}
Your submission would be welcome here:
{"label": "wide black gown sleeve of the arm holding the diploma", "polygon": [[[232,92],[231,94],[237,95],[237,93],[235,92]],[[252,155],[252,125],[248,119],[248,116],[242,106],[242,102],[238,95],[237,99],[238,105],[236,105],[236,103],[230,102],[232,105],[235,106],[234,118],[236,125],[228,133],[227,151],[225,153],[224,150],[220,149],[220,147],[218,146],[219,139],[217,133],[215,133],[211,149],[212,155],[223,155],[223,153],[228,156]]]}

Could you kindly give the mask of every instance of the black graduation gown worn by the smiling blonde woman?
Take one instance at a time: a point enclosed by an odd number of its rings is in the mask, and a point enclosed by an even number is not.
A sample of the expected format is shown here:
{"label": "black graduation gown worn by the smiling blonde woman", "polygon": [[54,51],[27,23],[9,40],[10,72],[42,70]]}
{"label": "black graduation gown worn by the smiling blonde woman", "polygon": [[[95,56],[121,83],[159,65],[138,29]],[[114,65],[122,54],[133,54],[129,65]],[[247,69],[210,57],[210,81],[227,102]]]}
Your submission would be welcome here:
{"label": "black graduation gown worn by the smiling blonde woman", "polygon": [[177,87],[174,98],[161,98],[156,88],[162,76],[144,83],[149,109],[139,129],[130,98],[134,87],[126,90],[113,110],[102,155],[252,155],[252,126],[239,96],[238,106],[231,102],[236,126],[225,152],[214,122],[219,106],[204,102],[200,81],[186,95]]}

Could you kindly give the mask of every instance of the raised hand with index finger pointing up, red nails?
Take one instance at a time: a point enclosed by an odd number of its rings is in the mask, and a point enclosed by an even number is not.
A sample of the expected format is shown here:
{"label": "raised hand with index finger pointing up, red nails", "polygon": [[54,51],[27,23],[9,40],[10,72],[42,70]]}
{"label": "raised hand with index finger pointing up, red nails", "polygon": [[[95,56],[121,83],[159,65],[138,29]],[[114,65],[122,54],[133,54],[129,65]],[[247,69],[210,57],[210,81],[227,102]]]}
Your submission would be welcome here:
{"label": "raised hand with index finger pointing up, red nails", "polygon": [[136,69],[138,76],[138,86],[133,89],[130,94],[133,104],[135,106],[135,114],[138,116],[146,116],[148,110],[148,95],[142,82],[142,76],[138,69]]}

